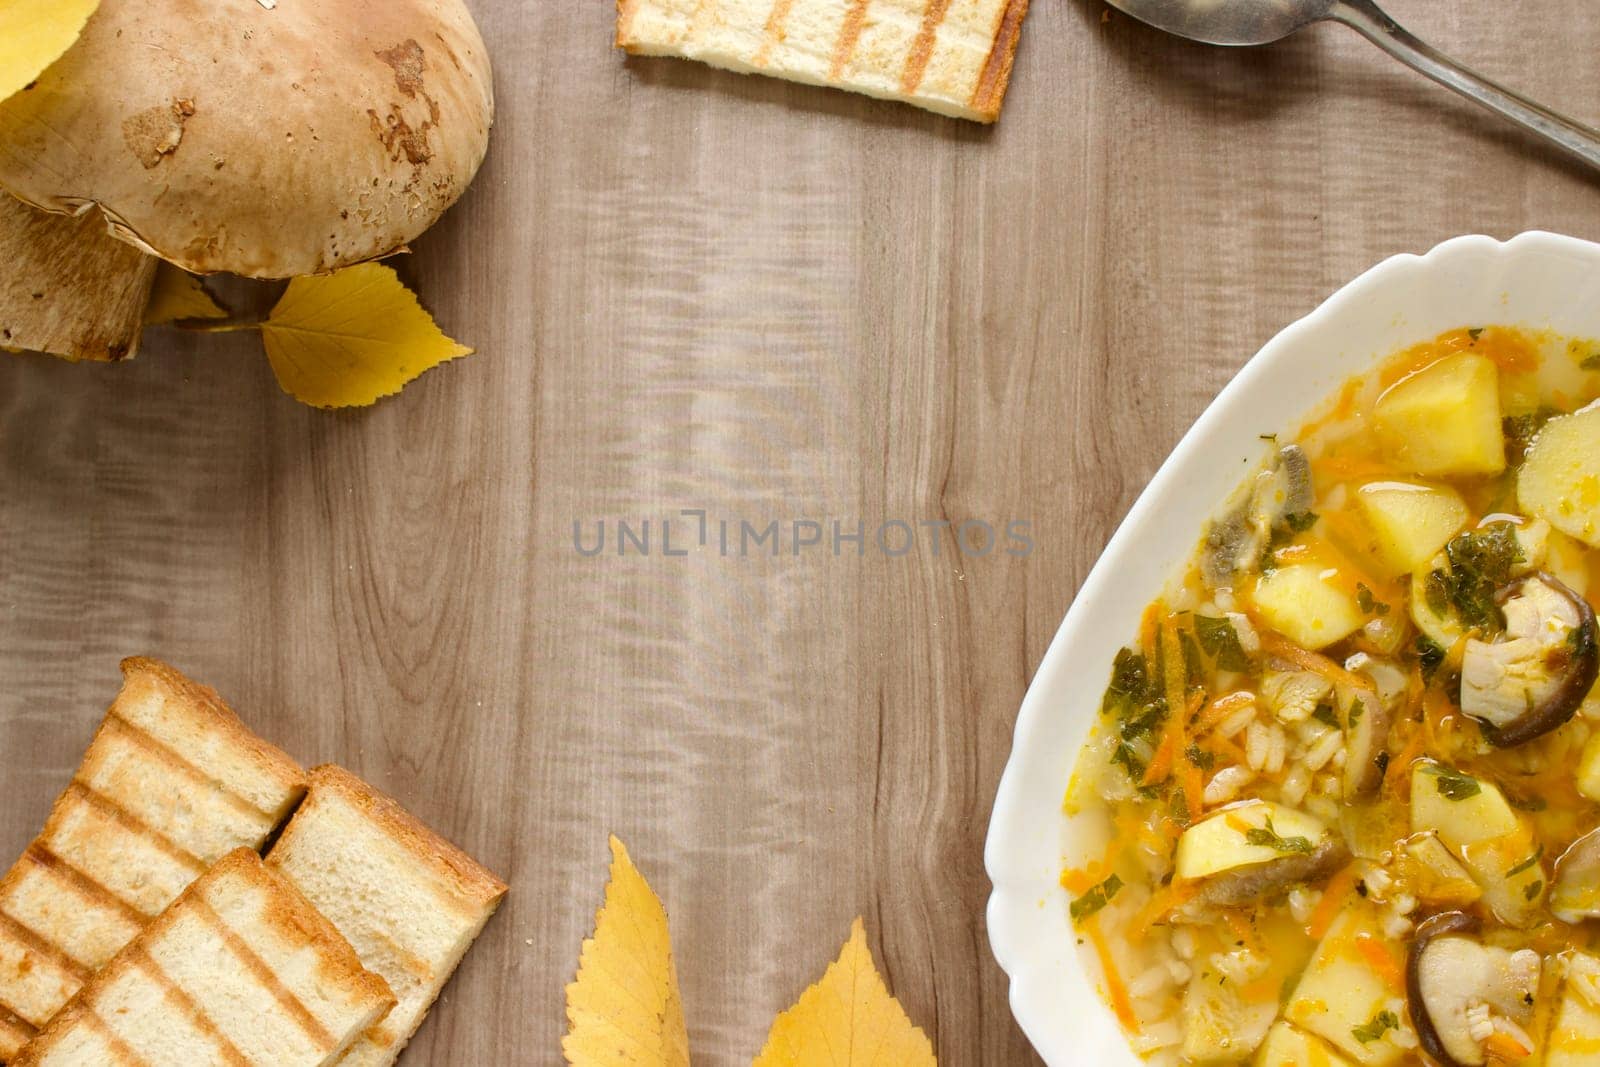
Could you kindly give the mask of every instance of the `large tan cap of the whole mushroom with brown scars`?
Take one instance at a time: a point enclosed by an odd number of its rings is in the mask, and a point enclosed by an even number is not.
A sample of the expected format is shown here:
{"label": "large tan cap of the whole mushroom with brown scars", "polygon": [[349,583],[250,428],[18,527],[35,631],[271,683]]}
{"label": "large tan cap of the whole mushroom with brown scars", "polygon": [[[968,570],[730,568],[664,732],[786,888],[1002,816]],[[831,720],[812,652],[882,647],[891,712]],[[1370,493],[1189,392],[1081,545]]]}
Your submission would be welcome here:
{"label": "large tan cap of the whole mushroom with brown scars", "polygon": [[102,0],[0,102],[0,186],[186,270],[317,274],[426,230],[491,118],[461,0]]}

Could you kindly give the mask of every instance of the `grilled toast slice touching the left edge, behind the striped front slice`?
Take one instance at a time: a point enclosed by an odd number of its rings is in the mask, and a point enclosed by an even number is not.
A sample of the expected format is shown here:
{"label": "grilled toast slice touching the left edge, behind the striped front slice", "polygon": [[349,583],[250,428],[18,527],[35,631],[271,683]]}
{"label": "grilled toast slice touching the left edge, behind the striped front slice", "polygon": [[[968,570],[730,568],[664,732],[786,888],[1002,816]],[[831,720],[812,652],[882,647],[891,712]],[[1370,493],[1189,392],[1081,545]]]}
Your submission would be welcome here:
{"label": "grilled toast slice touching the left edge, behind the striped front slice", "polygon": [[184,888],[261,848],[306,773],[154,659],[123,686],[45,830],[0,878],[0,1064]]}

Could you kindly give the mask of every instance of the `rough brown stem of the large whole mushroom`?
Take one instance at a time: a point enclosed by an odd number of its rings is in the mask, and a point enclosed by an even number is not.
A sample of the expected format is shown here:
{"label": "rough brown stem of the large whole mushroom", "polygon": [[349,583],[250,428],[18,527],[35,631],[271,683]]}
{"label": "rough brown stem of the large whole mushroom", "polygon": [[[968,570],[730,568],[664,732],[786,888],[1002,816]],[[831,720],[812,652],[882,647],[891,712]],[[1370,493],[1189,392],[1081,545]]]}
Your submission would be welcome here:
{"label": "rough brown stem of the large whole mushroom", "polygon": [[99,211],[50,214],[0,192],[0,346],[102,362],[138,350],[157,261]]}

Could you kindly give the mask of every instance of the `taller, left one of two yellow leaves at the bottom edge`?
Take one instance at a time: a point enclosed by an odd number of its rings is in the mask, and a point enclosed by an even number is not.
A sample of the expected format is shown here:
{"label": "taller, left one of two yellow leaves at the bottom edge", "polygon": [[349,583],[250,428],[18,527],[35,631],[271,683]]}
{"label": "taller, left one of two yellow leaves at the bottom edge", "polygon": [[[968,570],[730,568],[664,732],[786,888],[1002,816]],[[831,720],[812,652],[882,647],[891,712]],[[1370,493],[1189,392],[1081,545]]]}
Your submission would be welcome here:
{"label": "taller, left one of two yellow leaves at the bottom edge", "polygon": [[678,973],[661,897],[611,838],[611,880],[566,987],[562,1053],[573,1067],[688,1067]]}

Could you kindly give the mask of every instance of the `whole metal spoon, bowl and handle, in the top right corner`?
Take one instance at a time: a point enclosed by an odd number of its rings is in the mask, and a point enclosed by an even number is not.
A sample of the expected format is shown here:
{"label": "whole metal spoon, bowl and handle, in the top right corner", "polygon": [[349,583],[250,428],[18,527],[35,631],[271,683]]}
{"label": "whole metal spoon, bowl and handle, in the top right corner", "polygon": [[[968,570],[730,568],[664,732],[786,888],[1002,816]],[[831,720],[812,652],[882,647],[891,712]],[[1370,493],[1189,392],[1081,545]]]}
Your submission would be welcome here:
{"label": "whole metal spoon, bowl and handle, in the top right corner", "polygon": [[1490,82],[1408,34],[1373,0],[1107,0],[1141,22],[1208,45],[1267,45],[1312,22],[1344,22],[1414,70],[1600,170],[1600,131]]}

